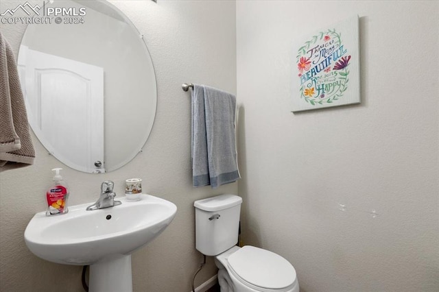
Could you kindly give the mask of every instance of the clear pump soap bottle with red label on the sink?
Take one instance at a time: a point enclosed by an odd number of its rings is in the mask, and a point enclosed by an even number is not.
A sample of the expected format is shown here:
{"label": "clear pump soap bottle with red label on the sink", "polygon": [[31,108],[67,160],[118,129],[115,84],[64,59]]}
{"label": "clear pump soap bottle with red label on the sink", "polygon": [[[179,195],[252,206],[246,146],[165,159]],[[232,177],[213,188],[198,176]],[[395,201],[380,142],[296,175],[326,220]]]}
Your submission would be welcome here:
{"label": "clear pump soap bottle with red label on the sink", "polygon": [[54,182],[51,187],[47,189],[46,199],[47,199],[47,211],[46,215],[60,215],[69,212],[67,208],[67,199],[69,199],[69,188],[67,183],[62,180],[60,171],[62,169],[56,168],[52,169],[55,172]]}

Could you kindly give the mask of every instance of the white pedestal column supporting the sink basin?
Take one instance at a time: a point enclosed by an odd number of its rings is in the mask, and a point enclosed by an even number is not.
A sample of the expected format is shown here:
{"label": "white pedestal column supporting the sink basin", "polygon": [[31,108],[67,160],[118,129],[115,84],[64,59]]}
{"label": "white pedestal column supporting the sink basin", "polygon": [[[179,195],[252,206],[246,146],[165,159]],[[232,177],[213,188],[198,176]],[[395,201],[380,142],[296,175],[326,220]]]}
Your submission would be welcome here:
{"label": "white pedestal column supporting the sink basin", "polygon": [[90,265],[90,292],[132,291],[131,255],[108,256]]}

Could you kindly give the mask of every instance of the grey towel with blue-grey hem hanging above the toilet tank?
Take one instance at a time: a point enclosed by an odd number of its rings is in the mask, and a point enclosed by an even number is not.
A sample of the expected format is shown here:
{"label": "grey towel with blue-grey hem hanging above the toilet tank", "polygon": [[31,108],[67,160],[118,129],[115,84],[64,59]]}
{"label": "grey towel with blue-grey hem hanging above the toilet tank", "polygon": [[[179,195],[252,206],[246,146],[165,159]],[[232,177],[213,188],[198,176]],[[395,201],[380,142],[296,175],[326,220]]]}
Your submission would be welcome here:
{"label": "grey towel with blue-grey hem hanging above the toilet tank", "polygon": [[235,95],[194,84],[192,92],[193,186],[217,188],[239,180]]}

